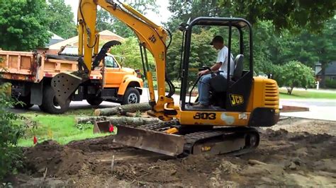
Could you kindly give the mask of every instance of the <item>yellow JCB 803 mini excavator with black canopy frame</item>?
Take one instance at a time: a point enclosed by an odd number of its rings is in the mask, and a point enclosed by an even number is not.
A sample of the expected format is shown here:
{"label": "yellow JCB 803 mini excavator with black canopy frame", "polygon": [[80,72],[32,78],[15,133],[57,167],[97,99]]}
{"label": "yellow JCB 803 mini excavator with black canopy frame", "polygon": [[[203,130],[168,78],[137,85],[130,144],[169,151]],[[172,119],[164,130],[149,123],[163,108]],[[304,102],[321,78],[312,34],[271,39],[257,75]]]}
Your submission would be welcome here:
{"label": "yellow JCB 803 mini excavator with black canopy frame", "polygon": [[[198,153],[239,155],[250,152],[258,146],[259,134],[254,127],[269,127],[278,122],[279,91],[276,81],[253,76],[252,27],[247,20],[199,17],[179,25],[179,30],[183,32],[181,70],[179,70],[181,92],[179,105],[174,105],[172,95],[175,88],[166,74],[166,64],[169,64],[166,62],[167,50],[172,35],[128,4],[113,0],[79,1],[79,71],[58,74],[52,79],[52,87],[59,102],[66,101],[80,83],[88,81],[90,71],[99,65],[108,49],[120,44],[116,41],[107,42],[99,51],[99,35],[96,30],[97,6],[101,6],[128,25],[138,36],[152,112],[164,121],[136,128],[118,126],[114,141],[171,156]],[[208,109],[195,109],[191,102],[194,87],[190,91],[188,89],[191,79],[189,76],[191,35],[193,28],[198,26],[228,28],[228,54],[232,51],[233,30],[239,35],[239,54],[235,58],[234,76],[228,74],[227,78],[230,79],[225,80],[227,82],[225,89],[221,87],[222,80],[218,79],[218,76],[213,76],[215,79],[211,85],[211,105]],[[147,61],[147,51],[155,59],[157,97],[153,87],[152,71]],[[228,70],[230,70],[230,58]],[[213,72],[211,74],[215,75]],[[166,83],[169,87],[167,93]]]}

